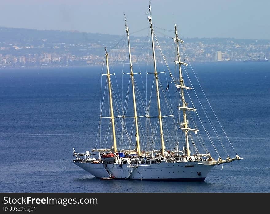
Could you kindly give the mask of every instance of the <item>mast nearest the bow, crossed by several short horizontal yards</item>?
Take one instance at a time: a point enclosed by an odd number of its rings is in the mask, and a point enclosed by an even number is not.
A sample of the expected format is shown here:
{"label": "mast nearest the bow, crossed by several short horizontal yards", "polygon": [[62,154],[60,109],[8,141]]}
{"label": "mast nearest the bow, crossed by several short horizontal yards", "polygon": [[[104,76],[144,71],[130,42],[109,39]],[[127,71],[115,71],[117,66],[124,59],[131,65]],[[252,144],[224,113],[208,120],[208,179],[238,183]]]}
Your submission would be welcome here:
{"label": "mast nearest the bow, crossed by several short horizontal yards", "polygon": [[190,156],[190,149],[189,149],[189,142],[188,142],[188,132],[189,131],[194,131],[197,134],[198,130],[188,128],[188,120],[187,120],[186,111],[187,110],[196,111],[196,109],[187,107],[187,103],[185,102],[184,90],[183,89],[191,90],[192,88],[189,88],[189,87],[185,86],[185,84],[184,84],[181,65],[183,64],[183,65],[187,66],[187,63],[181,62],[181,57],[180,57],[180,52],[179,52],[179,42],[183,43],[184,41],[178,39],[176,24],[174,25],[174,29],[175,29],[175,37],[176,38],[173,38],[173,39],[176,41],[176,47],[177,47],[177,61],[175,61],[175,62],[177,62],[179,64],[179,85],[176,85],[176,87],[181,89],[181,100],[182,100],[182,103],[183,103],[182,106],[178,107],[179,110],[180,109],[183,110],[183,121],[181,123],[182,127],[180,127],[180,129],[185,131],[186,150],[187,150],[187,156],[189,157]]}

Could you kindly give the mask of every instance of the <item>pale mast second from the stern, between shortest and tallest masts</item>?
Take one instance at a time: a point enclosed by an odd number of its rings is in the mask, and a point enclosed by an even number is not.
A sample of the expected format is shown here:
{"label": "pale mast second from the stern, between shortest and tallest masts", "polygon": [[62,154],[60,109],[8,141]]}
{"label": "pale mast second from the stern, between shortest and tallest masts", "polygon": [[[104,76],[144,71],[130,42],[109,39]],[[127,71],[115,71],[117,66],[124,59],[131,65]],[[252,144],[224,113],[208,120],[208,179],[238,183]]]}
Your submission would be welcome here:
{"label": "pale mast second from the stern, between shortest and tallest masts", "polygon": [[140,156],[141,150],[140,150],[139,126],[138,126],[138,118],[137,118],[137,107],[136,107],[136,99],[135,99],[134,74],[133,74],[132,62],[131,62],[129,28],[126,25],[126,18],[125,18],[125,28],[126,28],[126,32],[128,36],[128,44],[129,44],[129,64],[130,64],[130,77],[131,77],[132,94],[133,94],[133,108],[134,108],[134,118],[135,118],[135,128],[136,128],[135,136],[136,136],[136,144],[137,144],[137,154]]}

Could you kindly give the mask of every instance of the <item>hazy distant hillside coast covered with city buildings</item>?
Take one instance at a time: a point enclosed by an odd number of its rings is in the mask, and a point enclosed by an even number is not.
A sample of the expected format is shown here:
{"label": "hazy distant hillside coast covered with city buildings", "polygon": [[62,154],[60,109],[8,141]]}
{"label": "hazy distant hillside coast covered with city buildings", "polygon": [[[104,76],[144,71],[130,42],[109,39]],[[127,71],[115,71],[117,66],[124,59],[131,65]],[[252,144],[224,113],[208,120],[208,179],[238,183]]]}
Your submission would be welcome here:
{"label": "hazy distant hillside coast covered with city buildings", "polygon": [[[30,67],[74,67],[101,66],[104,59],[104,47],[107,46],[110,64],[118,64],[127,57],[125,36],[76,31],[31,30],[0,27],[0,69]],[[166,32],[168,34],[168,32]],[[172,53],[171,37],[158,35],[162,50]],[[133,63],[146,62],[148,45],[145,37],[131,36]],[[181,38],[183,60],[192,63],[204,62],[242,62],[249,58],[270,58],[270,40],[235,38]],[[107,41],[106,44],[101,41]],[[123,41],[122,44],[119,41]],[[182,47],[181,47],[182,49]],[[168,54],[167,62],[175,59]],[[126,58],[128,61],[128,59]],[[157,54],[157,62],[163,61]]]}

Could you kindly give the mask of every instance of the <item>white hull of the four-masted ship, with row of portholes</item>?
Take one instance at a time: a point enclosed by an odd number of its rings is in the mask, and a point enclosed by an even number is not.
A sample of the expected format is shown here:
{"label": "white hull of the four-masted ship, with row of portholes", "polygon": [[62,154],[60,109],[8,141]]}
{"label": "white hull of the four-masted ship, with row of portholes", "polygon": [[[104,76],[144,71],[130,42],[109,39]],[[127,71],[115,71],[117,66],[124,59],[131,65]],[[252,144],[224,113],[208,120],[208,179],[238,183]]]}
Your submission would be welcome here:
{"label": "white hull of the four-masted ship, with row of portholes", "polygon": [[97,178],[204,181],[214,165],[199,162],[153,163],[153,164],[107,164],[74,163]]}

